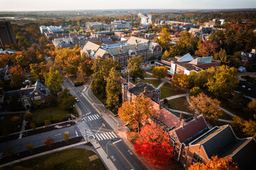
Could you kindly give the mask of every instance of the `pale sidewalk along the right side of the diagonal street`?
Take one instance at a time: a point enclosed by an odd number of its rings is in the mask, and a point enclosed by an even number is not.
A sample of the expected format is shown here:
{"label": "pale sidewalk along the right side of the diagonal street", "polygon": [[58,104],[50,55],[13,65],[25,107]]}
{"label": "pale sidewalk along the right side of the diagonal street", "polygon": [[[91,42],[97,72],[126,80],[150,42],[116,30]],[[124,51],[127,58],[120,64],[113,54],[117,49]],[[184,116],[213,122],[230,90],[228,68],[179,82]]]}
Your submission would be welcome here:
{"label": "pale sidewalk along the right side of the diagonal street", "polygon": [[[82,91],[82,96],[84,96],[87,101],[89,101],[89,103],[92,104],[93,103],[99,103],[100,101],[92,94],[92,92],[90,91],[90,87],[87,87],[85,91]],[[89,99],[90,98],[90,99]],[[102,104],[102,103],[101,103]],[[99,112],[99,114],[102,116],[102,118],[108,123],[108,125],[110,125],[110,127],[114,130],[114,132],[117,133],[117,135],[120,137],[120,139],[127,145],[127,147],[129,147],[129,149],[132,150],[132,152],[134,152],[134,154],[137,156],[137,158],[142,162],[142,164],[144,164],[146,166],[147,169],[154,169],[153,166],[151,166],[151,164],[149,164],[148,162],[145,161],[145,159],[143,157],[139,157],[136,153],[135,153],[135,149],[134,146],[132,145],[131,142],[129,142],[129,140],[127,139],[127,135],[126,132],[129,131],[129,129],[127,127],[124,126],[124,123],[119,120],[119,118],[114,118],[114,116],[112,116],[112,113],[110,113],[110,111],[106,110],[106,113],[104,112],[104,109],[102,108],[102,106],[100,108],[97,108],[94,106],[94,108]],[[100,154],[100,153],[99,153]]]}

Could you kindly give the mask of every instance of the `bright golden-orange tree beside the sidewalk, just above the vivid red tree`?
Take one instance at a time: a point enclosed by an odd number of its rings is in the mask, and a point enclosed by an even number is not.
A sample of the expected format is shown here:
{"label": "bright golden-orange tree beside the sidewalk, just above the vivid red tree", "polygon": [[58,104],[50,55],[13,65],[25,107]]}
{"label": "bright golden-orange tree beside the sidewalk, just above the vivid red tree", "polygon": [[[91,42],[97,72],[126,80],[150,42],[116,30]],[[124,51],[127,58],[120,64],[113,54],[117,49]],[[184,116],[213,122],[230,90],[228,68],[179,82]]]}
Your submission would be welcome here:
{"label": "bright golden-orange tree beside the sidewalk, just above the vivid red tree", "polygon": [[149,103],[150,98],[146,98],[143,94],[134,98],[132,102],[126,101],[118,110],[118,115],[124,123],[133,125],[138,124],[138,132],[142,127],[142,123],[149,119],[150,115],[154,114],[152,103]]}

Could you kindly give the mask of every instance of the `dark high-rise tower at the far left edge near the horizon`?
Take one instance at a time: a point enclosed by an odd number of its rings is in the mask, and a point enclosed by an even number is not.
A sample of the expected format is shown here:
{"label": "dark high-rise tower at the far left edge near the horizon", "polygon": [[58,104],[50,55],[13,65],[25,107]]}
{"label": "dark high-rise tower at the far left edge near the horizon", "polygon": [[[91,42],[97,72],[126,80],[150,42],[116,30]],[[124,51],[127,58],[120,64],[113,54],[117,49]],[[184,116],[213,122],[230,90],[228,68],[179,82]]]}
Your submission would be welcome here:
{"label": "dark high-rise tower at the far left edge near the horizon", "polygon": [[0,45],[4,48],[5,45],[16,44],[14,32],[10,21],[0,21]]}

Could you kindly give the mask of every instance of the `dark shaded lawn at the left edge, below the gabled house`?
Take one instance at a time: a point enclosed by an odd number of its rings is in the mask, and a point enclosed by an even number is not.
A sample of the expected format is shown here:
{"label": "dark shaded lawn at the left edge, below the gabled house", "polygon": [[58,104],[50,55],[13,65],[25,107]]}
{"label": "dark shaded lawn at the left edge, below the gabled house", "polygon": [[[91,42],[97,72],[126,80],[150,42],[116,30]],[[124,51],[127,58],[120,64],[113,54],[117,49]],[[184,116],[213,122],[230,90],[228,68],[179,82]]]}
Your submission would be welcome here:
{"label": "dark shaded lawn at the left edge, below the gabled house", "polygon": [[[21,119],[18,120],[17,122],[13,122],[11,121],[11,118],[13,118],[14,116],[19,116]],[[20,131],[22,122],[23,122],[23,114],[0,115],[0,136],[9,135],[13,132]]]}

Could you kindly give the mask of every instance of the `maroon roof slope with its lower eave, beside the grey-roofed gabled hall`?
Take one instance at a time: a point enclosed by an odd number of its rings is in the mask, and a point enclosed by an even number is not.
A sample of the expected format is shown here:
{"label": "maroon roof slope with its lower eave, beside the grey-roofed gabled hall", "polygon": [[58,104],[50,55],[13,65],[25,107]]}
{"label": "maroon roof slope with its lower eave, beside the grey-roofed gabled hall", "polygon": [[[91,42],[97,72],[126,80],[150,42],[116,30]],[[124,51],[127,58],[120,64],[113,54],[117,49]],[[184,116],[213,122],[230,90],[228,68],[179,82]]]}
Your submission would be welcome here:
{"label": "maroon roof slope with its lower eave, beside the grey-roofed gabled hall", "polygon": [[208,126],[206,125],[206,120],[203,118],[203,115],[199,115],[197,120],[193,119],[186,123],[183,128],[180,127],[174,131],[176,132],[179,142],[188,144],[207,130]]}

